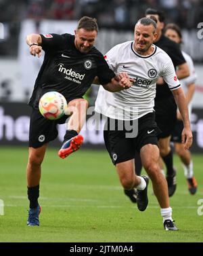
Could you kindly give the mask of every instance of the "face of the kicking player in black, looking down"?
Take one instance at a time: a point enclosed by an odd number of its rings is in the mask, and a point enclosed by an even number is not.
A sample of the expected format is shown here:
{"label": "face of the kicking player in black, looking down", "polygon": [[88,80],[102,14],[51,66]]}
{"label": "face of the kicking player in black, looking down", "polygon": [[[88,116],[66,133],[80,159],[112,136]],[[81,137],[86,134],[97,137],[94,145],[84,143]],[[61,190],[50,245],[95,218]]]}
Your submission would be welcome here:
{"label": "face of the kicking player in black, looking down", "polygon": [[78,29],[74,31],[75,39],[74,45],[82,53],[89,52],[95,43],[97,31],[87,31],[85,29]]}

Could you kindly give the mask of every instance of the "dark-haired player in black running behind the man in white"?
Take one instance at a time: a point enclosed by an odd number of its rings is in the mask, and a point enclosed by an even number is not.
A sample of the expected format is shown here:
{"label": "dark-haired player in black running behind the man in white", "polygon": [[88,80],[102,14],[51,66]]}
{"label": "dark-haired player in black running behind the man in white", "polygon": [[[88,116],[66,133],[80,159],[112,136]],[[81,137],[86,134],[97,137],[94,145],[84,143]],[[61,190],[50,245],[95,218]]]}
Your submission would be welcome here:
{"label": "dark-haired player in black running behind the man in white", "polygon": [[[148,8],[145,11],[145,16],[150,18],[150,16],[154,16],[157,22],[156,33],[158,37],[154,42],[159,48],[164,50],[168,56],[170,56],[173,61],[173,65],[176,69],[177,77],[174,79],[183,79],[189,76],[189,67],[187,66],[187,62],[181,53],[179,45],[168,39],[163,33],[162,29],[164,29],[164,13],[160,10],[155,10]],[[156,123],[162,133],[158,136],[158,146],[160,149],[160,156],[164,160],[164,164],[166,165],[166,181],[168,184],[168,196],[173,196],[175,193],[175,189],[177,186],[176,183],[176,171],[173,168],[173,151],[170,146],[171,134],[173,132],[173,128],[177,122],[177,105],[175,103],[175,99],[173,94],[168,89],[166,82],[160,77],[158,83],[156,85],[156,98],[155,98],[155,106],[154,109],[156,111]],[[137,175],[140,175],[142,168],[141,160],[139,157],[139,153],[135,154],[135,171]],[[129,196],[132,202],[137,202],[136,200],[136,191],[133,190],[125,190],[125,194]]]}

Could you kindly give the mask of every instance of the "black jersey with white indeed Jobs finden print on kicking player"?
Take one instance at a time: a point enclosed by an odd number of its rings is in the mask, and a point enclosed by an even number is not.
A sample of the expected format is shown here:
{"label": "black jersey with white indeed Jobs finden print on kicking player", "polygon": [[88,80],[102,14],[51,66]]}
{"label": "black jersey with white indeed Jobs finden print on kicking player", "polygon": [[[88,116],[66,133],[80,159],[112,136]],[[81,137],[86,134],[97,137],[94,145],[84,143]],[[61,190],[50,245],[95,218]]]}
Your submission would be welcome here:
{"label": "black jersey with white indeed Jobs finden print on kicking player", "polygon": [[101,84],[108,84],[114,72],[104,56],[95,47],[81,53],[74,45],[74,35],[41,35],[45,51],[43,65],[35,81],[29,105],[38,108],[39,99],[45,92],[56,91],[69,102],[81,98],[91,86],[95,76]]}

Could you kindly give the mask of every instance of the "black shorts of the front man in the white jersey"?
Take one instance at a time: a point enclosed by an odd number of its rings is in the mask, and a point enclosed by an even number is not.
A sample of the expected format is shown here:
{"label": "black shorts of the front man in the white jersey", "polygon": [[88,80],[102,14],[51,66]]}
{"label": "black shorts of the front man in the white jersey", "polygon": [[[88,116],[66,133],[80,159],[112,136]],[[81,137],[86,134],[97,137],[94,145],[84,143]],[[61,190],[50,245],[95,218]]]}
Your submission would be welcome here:
{"label": "black shorts of the front man in the white jersey", "polygon": [[[129,127],[133,127],[132,130],[137,129],[136,136],[127,137],[127,134],[132,132]],[[134,159],[135,151],[139,152],[144,145],[158,145],[157,136],[160,132],[155,122],[155,113],[148,113],[138,120],[131,121],[108,118],[104,126],[104,141],[113,164]]]}

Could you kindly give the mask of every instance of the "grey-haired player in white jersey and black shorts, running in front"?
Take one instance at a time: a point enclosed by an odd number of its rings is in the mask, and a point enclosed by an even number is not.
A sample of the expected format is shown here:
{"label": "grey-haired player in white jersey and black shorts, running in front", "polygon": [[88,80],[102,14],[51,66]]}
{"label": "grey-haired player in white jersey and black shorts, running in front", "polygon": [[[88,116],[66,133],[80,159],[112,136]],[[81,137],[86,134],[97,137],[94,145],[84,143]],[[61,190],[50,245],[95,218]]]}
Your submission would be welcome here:
{"label": "grey-haired player in white jersey and black shorts, running in front", "polygon": [[185,149],[191,146],[192,134],[183,90],[171,58],[152,44],[156,36],[156,22],[151,18],[141,18],[135,24],[134,41],[118,44],[106,54],[106,61],[115,73],[125,71],[135,82],[128,90],[116,93],[106,92],[100,86],[95,111],[108,117],[104,128],[104,141],[116,166],[122,187],[137,189],[137,207],[139,211],[145,211],[148,206],[149,178],[146,175],[135,175],[134,158],[137,150],[152,180],[154,194],[161,208],[164,229],[177,230],[172,219],[166,179],[158,166],[159,129],[154,121],[154,97],[158,77],[164,77],[183,116],[182,141]]}

